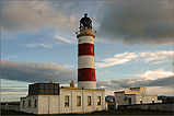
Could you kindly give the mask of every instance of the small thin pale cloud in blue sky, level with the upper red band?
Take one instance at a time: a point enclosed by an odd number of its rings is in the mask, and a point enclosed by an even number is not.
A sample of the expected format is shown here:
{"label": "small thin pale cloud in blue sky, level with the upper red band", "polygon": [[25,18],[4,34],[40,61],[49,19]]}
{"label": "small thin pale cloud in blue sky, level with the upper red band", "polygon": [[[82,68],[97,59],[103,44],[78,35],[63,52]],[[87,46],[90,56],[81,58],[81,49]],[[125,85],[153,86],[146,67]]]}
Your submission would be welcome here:
{"label": "small thin pale cloud in blue sky, level with the upper red band", "polygon": [[44,47],[44,48],[53,48],[54,45],[48,44],[42,44],[42,43],[32,43],[32,44],[24,44],[25,47]]}

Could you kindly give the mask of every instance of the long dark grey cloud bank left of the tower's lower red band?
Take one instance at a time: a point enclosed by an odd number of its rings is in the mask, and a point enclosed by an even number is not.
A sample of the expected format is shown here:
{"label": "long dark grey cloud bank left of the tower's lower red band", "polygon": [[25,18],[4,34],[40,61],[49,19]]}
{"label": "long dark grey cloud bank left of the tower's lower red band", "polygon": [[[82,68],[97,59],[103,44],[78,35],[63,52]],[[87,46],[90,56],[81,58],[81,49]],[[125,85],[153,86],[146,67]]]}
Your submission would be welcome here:
{"label": "long dark grey cloud bank left of the tower's lower red band", "polygon": [[1,79],[23,82],[55,82],[67,84],[77,80],[76,72],[61,67],[58,63],[43,62],[14,62],[1,60]]}

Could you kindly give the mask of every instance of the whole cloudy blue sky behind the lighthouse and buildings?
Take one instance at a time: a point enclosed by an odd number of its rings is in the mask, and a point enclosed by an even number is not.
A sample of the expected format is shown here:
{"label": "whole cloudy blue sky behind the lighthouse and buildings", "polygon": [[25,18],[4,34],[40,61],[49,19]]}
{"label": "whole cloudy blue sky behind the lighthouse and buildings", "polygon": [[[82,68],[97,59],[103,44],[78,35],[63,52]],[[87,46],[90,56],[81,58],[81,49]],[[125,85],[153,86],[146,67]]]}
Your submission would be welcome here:
{"label": "whole cloudy blue sky behind the lighthouse and buildings", "polygon": [[28,84],[77,84],[79,21],[96,31],[97,89],[130,86],[173,95],[174,1],[1,1],[1,101],[20,101]]}

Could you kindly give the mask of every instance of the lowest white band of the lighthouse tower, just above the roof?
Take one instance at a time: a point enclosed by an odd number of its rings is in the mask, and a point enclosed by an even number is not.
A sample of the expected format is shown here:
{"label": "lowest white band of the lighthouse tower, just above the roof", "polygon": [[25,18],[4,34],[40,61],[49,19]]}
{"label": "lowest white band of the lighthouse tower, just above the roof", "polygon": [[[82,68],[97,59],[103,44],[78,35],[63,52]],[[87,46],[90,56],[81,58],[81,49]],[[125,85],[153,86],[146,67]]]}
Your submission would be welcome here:
{"label": "lowest white band of the lighthouse tower, just above the roof", "polygon": [[78,89],[96,89],[95,81],[79,81]]}

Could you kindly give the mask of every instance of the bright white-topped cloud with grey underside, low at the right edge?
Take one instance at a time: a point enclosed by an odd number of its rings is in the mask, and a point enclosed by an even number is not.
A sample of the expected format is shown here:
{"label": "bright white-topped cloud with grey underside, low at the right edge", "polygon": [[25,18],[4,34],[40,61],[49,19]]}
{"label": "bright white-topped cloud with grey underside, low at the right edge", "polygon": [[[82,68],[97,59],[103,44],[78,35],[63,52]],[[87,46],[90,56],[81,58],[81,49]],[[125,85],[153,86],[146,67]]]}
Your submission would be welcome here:
{"label": "bright white-topped cloud with grey underside, low at the right edge", "polygon": [[119,88],[130,86],[167,86],[173,85],[173,72],[163,69],[149,70],[142,74],[135,74],[137,79],[112,80],[111,83],[118,84]]}

